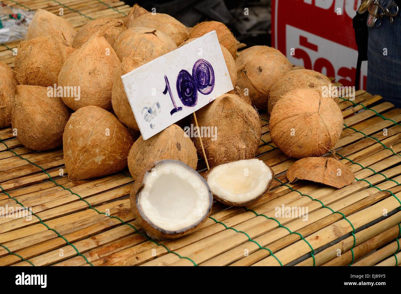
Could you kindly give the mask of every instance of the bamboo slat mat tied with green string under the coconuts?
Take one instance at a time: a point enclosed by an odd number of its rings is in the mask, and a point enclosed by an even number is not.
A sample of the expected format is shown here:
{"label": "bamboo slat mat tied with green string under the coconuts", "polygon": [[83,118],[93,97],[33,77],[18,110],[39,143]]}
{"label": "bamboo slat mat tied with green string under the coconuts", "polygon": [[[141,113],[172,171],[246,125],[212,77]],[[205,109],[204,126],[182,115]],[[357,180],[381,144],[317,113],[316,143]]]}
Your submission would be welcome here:
{"label": "bamboo slat mat tied with green string under the coconuts", "polygon": [[[4,2],[55,13],[63,7],[77,29],[130,10],[112,0]],[[13,66],[17,45],[1,46],[0,60]],[[0,207],[32,217],[0,213],[0,265],[399,265],[401,110],[363,90],[355,96],[341,99],[344,129],[328,155],[350,167],[352,185],[288,183],[295,159],[271,143],[263,114],[257,157],[277,175],[272,190],[247,208],[214,203],[197,231],[174,241],[150,239],[133,219],[128,171],[70,181],[62,149],[35,152],[11,128],[0,129]],[[282,204],[308,207],[308,220],[276,217]]]}

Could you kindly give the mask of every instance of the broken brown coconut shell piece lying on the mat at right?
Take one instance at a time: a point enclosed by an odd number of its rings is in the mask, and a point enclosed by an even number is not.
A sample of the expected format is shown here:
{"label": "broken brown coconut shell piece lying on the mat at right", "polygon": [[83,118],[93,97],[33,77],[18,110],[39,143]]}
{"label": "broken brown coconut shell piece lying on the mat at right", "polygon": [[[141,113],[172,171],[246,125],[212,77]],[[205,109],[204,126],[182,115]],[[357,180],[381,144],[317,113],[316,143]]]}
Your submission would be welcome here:
{"label": "broken brown coconut shell piece lying on the mat at right", "polygon": [[334,188],[354,182],[352,171],[341,161],[330,157],[306,157],[296,161],[287,171],[290,182],[308,180]]}

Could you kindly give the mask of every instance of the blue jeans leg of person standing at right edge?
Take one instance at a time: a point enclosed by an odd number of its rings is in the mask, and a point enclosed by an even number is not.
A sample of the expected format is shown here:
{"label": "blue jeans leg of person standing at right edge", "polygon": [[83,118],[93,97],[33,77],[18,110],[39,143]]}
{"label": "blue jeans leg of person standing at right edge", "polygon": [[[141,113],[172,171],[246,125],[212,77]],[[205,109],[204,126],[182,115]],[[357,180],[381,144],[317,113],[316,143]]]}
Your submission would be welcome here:
{"label": "blue jeans leg of person standing at right edge", "polygon": [[[380,0],[386,8],[393,0]],[[397,16],[384,16],[379,28],[369,28],[367,91],[401,108],[401,7]],[[387,55],[386,53],[387,49]]]}

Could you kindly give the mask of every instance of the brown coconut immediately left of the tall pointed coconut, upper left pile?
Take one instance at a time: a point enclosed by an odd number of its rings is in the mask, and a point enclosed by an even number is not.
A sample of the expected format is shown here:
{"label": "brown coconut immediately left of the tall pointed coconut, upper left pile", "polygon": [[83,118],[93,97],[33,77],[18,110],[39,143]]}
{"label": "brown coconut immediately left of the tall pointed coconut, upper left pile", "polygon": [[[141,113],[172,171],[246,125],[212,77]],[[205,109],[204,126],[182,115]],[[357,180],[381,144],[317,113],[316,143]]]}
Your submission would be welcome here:
{"label": "brown coconut immediately left of the tall pointed coconut, upper left pile", "polygon": [[74,51],[60,35],[21,41],[15,57],[18,82],[21,85],[53,87],[63,63]]}

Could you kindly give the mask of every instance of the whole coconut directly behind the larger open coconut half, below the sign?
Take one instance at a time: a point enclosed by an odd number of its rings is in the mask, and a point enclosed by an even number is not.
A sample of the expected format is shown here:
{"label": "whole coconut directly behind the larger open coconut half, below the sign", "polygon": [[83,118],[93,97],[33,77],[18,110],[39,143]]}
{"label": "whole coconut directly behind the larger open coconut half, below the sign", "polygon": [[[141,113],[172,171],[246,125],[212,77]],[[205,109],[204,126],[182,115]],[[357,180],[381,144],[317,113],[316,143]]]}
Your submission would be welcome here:
{"label": "whole coconut directly behind the larger open coconut half, below the sign", "polygon": [[135,141],[128,155],[128,168],[132,178],[150,163],[161,159],[176,159],[196,169],[198,156],[191,139],[177,125],[171,125],[160,133],[147,139]]}

